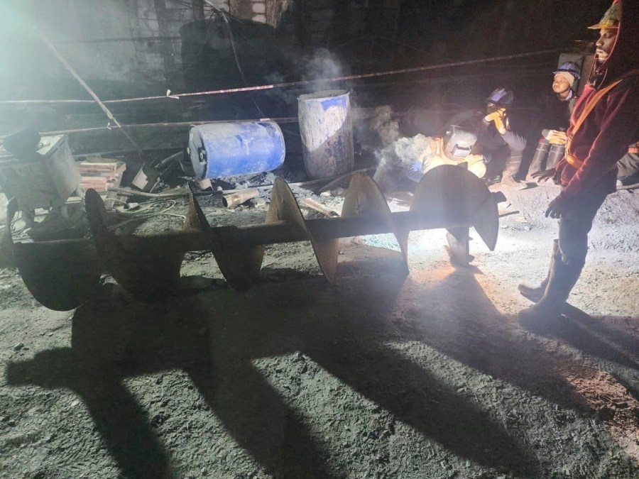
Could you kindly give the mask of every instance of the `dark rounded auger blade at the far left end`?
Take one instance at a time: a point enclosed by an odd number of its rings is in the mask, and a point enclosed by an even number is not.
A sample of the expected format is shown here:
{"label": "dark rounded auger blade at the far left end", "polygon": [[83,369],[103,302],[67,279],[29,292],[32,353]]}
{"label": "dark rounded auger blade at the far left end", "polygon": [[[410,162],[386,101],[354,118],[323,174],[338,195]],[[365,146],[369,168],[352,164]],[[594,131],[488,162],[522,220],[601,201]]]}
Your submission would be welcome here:
{"label": "dark rounded auger blade at the far left end", "polygon": [[[7,207],[7,225],[18,209],[15,199]],[[24,284],[44,307],[70,311],[82,306],[98,285],[102,270],[93,243],[87,239],[13,243],[7,231],[5,246]]]}

